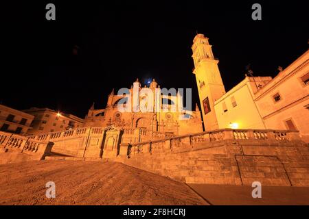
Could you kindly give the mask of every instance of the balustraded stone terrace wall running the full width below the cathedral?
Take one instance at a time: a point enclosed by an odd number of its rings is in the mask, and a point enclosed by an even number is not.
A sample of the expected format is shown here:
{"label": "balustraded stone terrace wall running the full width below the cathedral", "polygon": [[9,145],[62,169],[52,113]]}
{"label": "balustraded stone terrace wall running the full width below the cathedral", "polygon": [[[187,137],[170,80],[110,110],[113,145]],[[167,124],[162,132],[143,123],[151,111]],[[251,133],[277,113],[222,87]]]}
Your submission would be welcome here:
{"label": "balustraded stone terrace wall running the full width below the cathedral", "polygon": [[309,187],[309,146],[297,131],[218,129],[106,148],[104,140],[117,133],[113,127],[32,138],[0,133],[0,160],[115,161],[185,183]]}

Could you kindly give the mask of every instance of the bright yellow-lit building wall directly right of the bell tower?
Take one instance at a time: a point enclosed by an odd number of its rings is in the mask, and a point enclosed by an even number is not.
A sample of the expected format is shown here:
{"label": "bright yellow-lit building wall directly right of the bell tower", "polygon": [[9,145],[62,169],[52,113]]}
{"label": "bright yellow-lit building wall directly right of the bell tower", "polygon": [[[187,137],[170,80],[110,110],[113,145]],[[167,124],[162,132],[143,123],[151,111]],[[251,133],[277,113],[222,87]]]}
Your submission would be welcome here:
{"label": "bright yellow-lit building wall directly right of the bell tower", "polygon": [[264,122],[253,101],[257,86],[271,81],[271,77],[245,77],[214,103],[220,129],[265,129]]}

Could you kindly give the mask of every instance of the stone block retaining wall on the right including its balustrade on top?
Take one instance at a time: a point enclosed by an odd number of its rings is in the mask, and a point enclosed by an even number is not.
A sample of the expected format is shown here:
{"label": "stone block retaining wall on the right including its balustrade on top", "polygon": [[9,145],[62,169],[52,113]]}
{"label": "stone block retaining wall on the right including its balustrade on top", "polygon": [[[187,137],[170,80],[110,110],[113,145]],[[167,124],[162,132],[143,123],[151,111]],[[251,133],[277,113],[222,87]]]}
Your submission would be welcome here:
{"label": "stone block retaining wall on the right including its balustrade on top", "polygon": [[196,133],[129,145],[127,155],[118,161],[186,183],[309,186],[309,147],[293,131]]}

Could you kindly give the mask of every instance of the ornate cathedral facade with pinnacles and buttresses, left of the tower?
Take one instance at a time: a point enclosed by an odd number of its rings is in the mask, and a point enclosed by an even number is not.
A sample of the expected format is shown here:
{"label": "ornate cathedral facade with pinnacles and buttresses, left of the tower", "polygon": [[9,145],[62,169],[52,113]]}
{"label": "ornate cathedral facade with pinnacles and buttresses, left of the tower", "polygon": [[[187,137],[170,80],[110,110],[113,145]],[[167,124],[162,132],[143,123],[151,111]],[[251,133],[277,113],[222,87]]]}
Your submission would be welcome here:
{"label": "ornate cathedral facade with pinnacles and buttresses, left of the tower", "polygon": [[[139,91],[143,89],[138,79],[134,84],[137,84]],[[160,89],[160,86],[153,79],[149,86],[144,88],[149,88],[155,94],[156,89]],[[133,86],[128,90],[130,90],[131,99],[133,99]],[[139,102],[141,102],[143,98],[141,93],[138,97]],[[108,95],[105,109],[95,109],[93,103],[84,120],[84,126],[108,127],[113,125],[113,127],[124,130],[122,142],[129,143],[203,131],[201,112],[198,105],[196,105],[195,111],[177,110],[177,106],[182,102],[179,100],[179,93],[176,96],[161,94],[159,98],[161,110],[159,112],[121,112],[119,103],[123,100],[124,96],[115,94],[113,90]],[[156,107],[155,101],[153,102],[154,108]],[[133,136],[137,136],[137,139],[133,138]]]}

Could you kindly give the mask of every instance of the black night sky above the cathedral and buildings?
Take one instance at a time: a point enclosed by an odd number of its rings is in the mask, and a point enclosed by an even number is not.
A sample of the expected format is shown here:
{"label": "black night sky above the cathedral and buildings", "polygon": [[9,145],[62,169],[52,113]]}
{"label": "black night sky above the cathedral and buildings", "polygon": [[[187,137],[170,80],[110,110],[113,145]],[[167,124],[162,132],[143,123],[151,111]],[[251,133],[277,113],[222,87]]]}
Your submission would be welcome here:
{"label": "black night sky above the cathedral and buildings", "polygon": [[[308,1],[14,1],[1,3],[0,103],[50,107],[84,117],[112,88],[155,77],[161,88],[193,88],[196,31],[213,45],[226,90],[277,74],[308,49]],[[56,21],[45,5],[56,5]],[[262,5],[262,21],[251,5]],[[77,49],[77,54],[74,53]]]}

